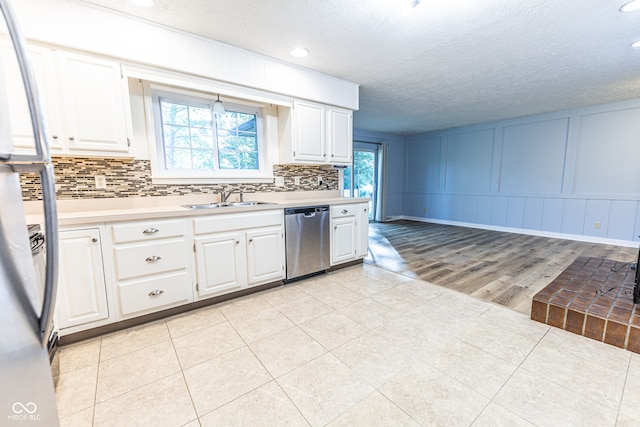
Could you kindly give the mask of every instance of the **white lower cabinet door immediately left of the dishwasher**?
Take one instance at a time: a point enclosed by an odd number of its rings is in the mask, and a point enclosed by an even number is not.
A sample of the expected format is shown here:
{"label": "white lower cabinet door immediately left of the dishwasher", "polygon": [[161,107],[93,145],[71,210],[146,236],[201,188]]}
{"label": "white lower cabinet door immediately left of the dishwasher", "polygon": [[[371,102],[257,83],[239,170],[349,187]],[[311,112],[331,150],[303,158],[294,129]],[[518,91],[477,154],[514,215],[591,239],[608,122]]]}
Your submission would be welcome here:
{"label": "white lower cabinet door immediately left of the dishwasher", "polygon": [[249,285],[284,278],[284,242],[282,227],[247,231]]}

